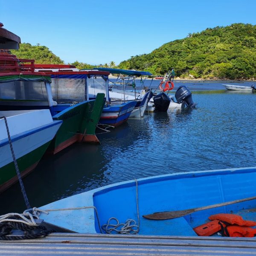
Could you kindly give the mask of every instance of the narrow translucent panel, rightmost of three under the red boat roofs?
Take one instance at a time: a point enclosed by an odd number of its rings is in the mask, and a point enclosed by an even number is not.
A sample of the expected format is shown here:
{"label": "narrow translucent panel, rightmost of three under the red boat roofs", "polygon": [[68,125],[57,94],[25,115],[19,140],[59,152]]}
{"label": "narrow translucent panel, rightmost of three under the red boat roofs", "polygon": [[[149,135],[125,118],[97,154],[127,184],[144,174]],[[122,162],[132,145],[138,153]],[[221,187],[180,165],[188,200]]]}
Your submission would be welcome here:
{"label": "narrow translucent panel, rightmost of three under the red boat roofs", "polygon": [[109,102],[108,76],[88,75],[86,79],[87,99],[95,99],[97,93],[105,93],[106,101]]}

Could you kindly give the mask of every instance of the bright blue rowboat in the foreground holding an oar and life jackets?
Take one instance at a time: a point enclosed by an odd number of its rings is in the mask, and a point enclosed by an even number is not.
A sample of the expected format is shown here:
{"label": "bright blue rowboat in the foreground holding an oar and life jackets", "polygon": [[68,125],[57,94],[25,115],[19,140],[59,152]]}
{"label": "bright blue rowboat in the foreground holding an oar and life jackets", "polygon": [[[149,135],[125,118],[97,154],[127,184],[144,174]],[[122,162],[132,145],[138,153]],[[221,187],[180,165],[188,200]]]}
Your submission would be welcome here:
{"label": "bright blue rowboat in the foreground holding an oar and life jackets", "polygon": [[[256,221],[256,200],[194,212],[169,220],[148,220],[142,215],[153,212],[183,210],[256,195],[256,167],[185,172],[138,180],[138,207],[140,235],[197,236],[193,228],[209,221],[217,213],[237,213],[244,219]],[[42,207],[96,207],[100,225],[115,217],[120,223],[128,218],[137,220],[135,180],[94,189]],[[99,233],[99,224],[93,209],[49,212],[43,215],[47,222],[64,226],[80,233]],[[82,219],[83,225],[76,224]]]}

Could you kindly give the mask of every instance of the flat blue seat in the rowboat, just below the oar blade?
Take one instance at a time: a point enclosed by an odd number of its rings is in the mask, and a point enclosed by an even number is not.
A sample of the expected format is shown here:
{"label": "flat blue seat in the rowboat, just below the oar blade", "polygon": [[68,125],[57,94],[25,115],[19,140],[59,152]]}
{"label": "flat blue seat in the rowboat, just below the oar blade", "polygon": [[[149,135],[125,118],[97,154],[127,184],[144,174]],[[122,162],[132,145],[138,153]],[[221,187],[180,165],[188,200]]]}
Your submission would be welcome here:
{"label": "flat blue seat in the rowboat, just below the oar blade", "polygon": [[158,236],[197,236],[195,231],[183,217],[159,221],[141,218],[139,234]]}

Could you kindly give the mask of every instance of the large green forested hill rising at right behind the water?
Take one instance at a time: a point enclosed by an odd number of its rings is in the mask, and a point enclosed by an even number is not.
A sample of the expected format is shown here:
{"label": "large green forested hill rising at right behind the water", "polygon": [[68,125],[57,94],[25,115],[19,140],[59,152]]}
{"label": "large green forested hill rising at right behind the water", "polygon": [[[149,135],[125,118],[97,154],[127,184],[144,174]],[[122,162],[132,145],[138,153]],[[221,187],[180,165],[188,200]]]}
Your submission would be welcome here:
{"label": "large green forested hill rising at right behind the water", "polygon": [[180,77],[256,79],[256,26],[235,23],[208,28],[119,64],[122,69],[147,70],[155,75],[172,67]]}

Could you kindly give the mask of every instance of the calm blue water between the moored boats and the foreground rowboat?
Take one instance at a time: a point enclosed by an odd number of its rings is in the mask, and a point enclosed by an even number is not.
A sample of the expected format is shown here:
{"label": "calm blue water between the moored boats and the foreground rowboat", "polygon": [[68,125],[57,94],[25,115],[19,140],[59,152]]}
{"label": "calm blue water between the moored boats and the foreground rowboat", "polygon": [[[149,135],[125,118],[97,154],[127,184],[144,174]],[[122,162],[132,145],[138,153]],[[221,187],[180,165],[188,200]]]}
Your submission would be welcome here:
{"label": "calm blue water between the moored boats and the foreground rowboat", "polygon": [[[180,84],[188,84],[192,91],[205,90],[192,94],[197,109],[129,119],[110,133],[99,134],[101,145],[76,144],[42,159],[24,178],[31,205],[133,178],[256,166],[256,93],[228,92],[220,82]],[[207,93],[213,89],[223,91]],[[25,209],[18,184],[0,197],[1,214]]]}

